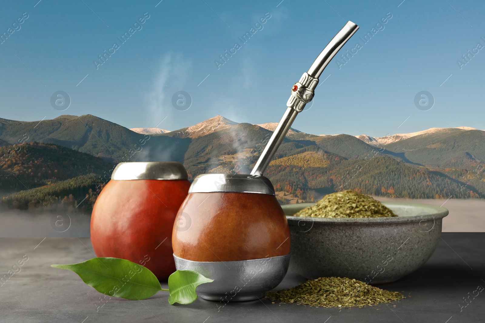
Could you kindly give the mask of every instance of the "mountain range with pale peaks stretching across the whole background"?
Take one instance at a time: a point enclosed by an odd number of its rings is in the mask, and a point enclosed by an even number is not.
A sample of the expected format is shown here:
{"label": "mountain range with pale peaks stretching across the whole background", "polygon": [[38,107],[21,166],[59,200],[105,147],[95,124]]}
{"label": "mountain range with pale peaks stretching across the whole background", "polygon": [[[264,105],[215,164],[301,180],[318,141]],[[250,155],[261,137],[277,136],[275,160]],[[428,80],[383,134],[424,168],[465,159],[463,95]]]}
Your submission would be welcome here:
{"label": "mountain range with pale peaks stretching across the whole background", "polygon": [[[63,176],[54,176],[49,185],[74,178],[72,176],[88,176],[73,182],[84,183],[82,192],[85,194],[93,182],[89,174],[99,174],[101,169],[107,172],[122,161],[179,161],[190,179],[209,172],[249,172],[276,125],[236,123],[216,116],[166,131],[159,128],[130,130],[93,115],[62,115],[41,122],[0,119],[1,155],[10,160],[9,168],[2,169],[6,175],[0,179],[4,182],[0,187],[16,191],[25,188],[13,184],[15,165],[8,157],[8,152],[12,151],[9,145],[22,147],[19,144],[22,142],[40,143],[32,146],[37,152],[65,147],[62,149],[72,152],[69,153],[73,154],[71,158],[83,153],[82,156],[99,157],[96,162],[82,157],[85,163],[100,166],[77,173],[62,169],[55,158],[44,166],[63,173]],[[283,196],[293,201],[310,201],[343,188],[401,198],[485,198],[484,139],[485,131],[470,127],[431,128],[378,138],[345,134],[317,136],[291,128],[265,175],[278,192],[286,192],[279,195],[282,202],[285,201]],[[15,162],[34,165],[39,156],[39,153],[19,154]],[[37,182],[30,179],[29,176],[37,175],[29,170],[25,169],[23,175],[24,180],[29,180],[29,189],[46,185],[42,176]],[[32,175],[28,175],[30,173]],[[91,184],[86,184],[88,182]],[[66,185],[59,184],[62,189],[57,191],[65,192],[65,187],[69,186]],[[52,190],[50,188],[49,192]],[[72,195],[76,199],[84,194],[82,192],[78,190],[77,195]],[[24,205],[27,205],[25,199]],[[95,197],[90,198],[91,202],[93,199]],[[73,203],[77,202],[80,201]]]}

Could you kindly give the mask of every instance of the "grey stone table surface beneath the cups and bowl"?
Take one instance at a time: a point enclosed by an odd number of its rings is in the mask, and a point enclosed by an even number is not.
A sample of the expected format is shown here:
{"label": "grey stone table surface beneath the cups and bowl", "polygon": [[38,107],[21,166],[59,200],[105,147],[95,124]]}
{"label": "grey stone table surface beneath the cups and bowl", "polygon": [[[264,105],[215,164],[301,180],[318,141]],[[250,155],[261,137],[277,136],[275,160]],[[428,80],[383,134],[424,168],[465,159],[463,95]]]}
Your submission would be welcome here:
{"label": "grey stone table surface beneath the cups and bowl", "polygon": [[[93,258],[89,238],[0,238],[0,277],[23,261],[20,271],[1,282],[0,322],[485,322],[485,291],[474,292],[485,286],[484,251],[485,233],[443,233],[435,254],[419,270],[379,286],[411,295],[393,302],[395,308],[314,308],[264,299],[221,307],[200,298],[172,306],[167,292],[143,301],[106,300],[76,274],[50,267]],[[277,289],[303,281],[290,272]]]}

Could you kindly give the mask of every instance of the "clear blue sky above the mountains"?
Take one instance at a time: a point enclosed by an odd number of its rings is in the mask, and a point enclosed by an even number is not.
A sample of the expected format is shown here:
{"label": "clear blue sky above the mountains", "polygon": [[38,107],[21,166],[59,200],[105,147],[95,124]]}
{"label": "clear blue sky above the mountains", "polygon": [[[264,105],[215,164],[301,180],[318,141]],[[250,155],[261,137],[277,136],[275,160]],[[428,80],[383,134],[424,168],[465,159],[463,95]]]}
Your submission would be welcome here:
{"label": "clear blue sky above the mountains", "polygon": [[[371,136],[485,129],[485,48],[461,69],[457,63],[478,43],[485,46],[484,14],[478,0],[10,1],[0,12],[0,32],[9,34],[0,45],[0,117],[93,114],[129,128],[163,120],[159,127],[168,130],[218,114],[277,122],[292,84],[351,20],[360,29],[339,55],[357,42],[362,48],[345,64],[336,57],[327,66],[294,128]],[[392,18],[378,30],[386,15]],[[251,28],[256,32],[243,43],[238,37]],[[359,37],[372,28],[378,31],[364,44]],[[117,37],[125,32],[122,43]],[[240,48],[218,66],[214,61],[235,43]],[[114,53],[101,65],[105,50]],[[50,104],[57,91],[71,98],[65,111]],[[192,97],[189,109],[173,107],[178,91]],[[430,110],[415,106],[420,91],[433,95]]]}

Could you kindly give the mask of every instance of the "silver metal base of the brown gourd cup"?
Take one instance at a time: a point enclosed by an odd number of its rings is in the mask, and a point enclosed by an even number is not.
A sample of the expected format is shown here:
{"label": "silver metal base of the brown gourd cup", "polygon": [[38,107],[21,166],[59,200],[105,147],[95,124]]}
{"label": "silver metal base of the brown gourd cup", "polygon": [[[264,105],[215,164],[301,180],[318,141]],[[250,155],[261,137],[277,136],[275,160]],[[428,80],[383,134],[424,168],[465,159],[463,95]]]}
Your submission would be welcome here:
{"label": "silver metal base of the brown gourd cup", "polygon": [[197,295],[224,303],[260,298],[283,280],[290,255],[241,261],[191,261],[174,255],[177,270],[194,270],[213,282],[197,286]]}

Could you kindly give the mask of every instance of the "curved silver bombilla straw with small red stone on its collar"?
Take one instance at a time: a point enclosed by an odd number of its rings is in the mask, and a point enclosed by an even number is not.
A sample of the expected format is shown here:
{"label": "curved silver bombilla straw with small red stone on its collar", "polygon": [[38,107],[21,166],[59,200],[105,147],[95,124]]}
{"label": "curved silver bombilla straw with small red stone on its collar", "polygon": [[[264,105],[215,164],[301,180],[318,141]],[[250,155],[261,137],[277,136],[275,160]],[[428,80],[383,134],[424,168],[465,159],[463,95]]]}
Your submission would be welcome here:
{"label": "curved silver bombilla straw with small red stone on its collar", "polygon": [[320,55],[313,64],[311,64],[308,72],[303,73],[300,81],[296,82],[291,88],[291,96],[286,103],[287,109],[283,118],[276,126],[275,132],[271,136],[263,152],[259,156],[256,165],[251,171],[251,175],[262,175],[266,167],[273,158],[273,155],[278,150],[279,145],[285,138],[291,123],[296,118],[296,115],[303,111],[305,105],[313,99],[314,90],[318,84],[318,77],[323,72],[323,69],[328,65],[332,58],[342,48],[342,46],[354,35],[359,27],[352,21],[348,21],[345,26],[335,35],[335,37],[323,48]]}

